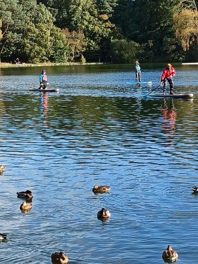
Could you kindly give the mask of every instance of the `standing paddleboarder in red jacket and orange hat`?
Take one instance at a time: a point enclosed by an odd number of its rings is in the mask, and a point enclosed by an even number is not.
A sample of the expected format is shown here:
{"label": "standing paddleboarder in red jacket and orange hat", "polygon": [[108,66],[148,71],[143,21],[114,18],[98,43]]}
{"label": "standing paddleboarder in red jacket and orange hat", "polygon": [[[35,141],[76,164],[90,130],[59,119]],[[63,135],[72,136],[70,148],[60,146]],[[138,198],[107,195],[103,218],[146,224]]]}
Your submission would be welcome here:
{"label": "standing paddleboarder in red jacket and orange hat", "polygon": [[173,94],[174,84],[173,84],[173,79],[172,78],[174,76],[175,76],[175,69],[172,67],[172,65],[170,63],[168,63],[167,67],[163,70],[161,81],[160,81],[160,86],[162,84],[164,84],[164,86],[163,86],[163,95],[165,95],[167,82],[170,85],[170,94]]}

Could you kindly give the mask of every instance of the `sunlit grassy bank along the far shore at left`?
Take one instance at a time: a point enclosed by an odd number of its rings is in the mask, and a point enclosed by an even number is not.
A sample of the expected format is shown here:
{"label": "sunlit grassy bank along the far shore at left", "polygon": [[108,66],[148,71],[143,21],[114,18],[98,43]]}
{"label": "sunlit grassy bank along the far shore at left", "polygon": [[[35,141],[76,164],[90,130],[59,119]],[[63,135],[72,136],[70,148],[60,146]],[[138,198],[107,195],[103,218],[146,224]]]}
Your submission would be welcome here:
{"label": "sunlit grassy bank along the far shore at left", "polygon": [[105,62],[43,62],[43,63],[23,63],[23,64],[12,64],[7,62],[1,62],[0,63],[0,69],[1,68],[19,68],[19,67],[46,67],[46,66],[67,66],[67,65],[98,65],[98,64],[106,64]]}

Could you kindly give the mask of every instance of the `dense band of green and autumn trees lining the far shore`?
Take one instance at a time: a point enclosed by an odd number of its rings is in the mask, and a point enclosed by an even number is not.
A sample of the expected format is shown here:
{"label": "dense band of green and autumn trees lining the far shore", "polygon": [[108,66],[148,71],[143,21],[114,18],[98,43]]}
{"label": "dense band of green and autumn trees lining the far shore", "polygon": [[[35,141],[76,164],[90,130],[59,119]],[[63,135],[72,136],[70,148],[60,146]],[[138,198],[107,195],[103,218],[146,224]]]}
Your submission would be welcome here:
{"label": "dense band of green and autumn trees lining the far shore", "polygon": [[196,0],[0,0],[0,58],[197,60]]}

